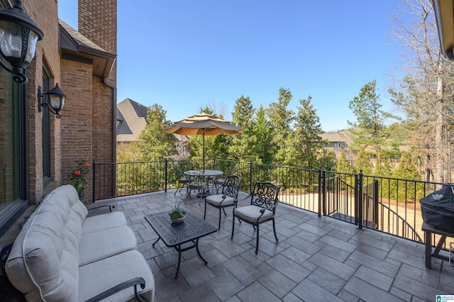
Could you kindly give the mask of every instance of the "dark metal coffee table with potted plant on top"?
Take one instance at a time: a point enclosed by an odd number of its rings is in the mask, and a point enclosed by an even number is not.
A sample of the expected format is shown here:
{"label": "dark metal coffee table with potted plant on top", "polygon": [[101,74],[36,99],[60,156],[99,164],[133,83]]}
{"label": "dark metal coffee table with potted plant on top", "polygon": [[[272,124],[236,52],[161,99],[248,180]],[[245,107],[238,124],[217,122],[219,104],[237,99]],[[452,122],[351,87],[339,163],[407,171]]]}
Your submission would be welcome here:
{"label": "dark metal coffee table with potted plant on top", "polygon": [[[153,243],[153,247],[156,242],[162,239],[162,242],[164,242],[167,247],[174,247],[175,250],[178,251],[178,266],[175,278],[178,276],[179,264],[182,259],[182,252],[184,251],[191,250],[195,247],[197,255],[199,255],[200,259],[202,259],[205,264],[208,263],[204,257],[201,257],[200,255],[199,238],[215,233],[218,230],[218,228],[210,223],[207,223],[201,217],[195,216],[185,208],[182,209],[186,211],[186,218],[184,218],[183,223],[179,224],[172,224],[169,216],[170,211],[145,216],[145,219],[148,223],[150,223],[153,230],[155,230],[159,236]],[[192,245],[182,248],[182,245],[187,242],[192,242]]]}

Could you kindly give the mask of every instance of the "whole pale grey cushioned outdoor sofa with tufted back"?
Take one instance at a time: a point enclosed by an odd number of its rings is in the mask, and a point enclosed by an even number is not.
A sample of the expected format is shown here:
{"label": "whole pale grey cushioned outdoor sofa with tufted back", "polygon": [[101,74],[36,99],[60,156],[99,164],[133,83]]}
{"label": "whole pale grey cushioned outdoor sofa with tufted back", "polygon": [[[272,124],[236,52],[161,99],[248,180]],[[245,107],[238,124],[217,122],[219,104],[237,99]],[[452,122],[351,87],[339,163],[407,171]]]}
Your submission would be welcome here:
{"label": "whole pale grey cushioned outdoor sofa with tufted back", "polygon": [[27,301],[149,301],[155,280],[122,212],[87,217],[70,185],[40,203],[6,260]]}

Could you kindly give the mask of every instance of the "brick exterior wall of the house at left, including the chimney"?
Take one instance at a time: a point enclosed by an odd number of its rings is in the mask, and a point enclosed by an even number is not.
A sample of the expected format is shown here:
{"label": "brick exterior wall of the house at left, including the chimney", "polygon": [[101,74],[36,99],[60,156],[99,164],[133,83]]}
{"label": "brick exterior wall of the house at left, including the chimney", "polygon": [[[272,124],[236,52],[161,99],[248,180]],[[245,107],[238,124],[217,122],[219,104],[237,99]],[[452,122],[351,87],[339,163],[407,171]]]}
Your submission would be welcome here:
{"label": "brick exterior wall of the house at left, including the chimney", "polygon": [[[0,9],[10,8],[13,2],[0,0]],[[13,83],[9,72],[0,70],[0,110],[3,116],[0,120],[0,152],[4,154],[0,157],[0,186],[3,186],[0,187],[0,236],[8,231],[28,205],[41,201],[52,186],[69,181],[68,174],[74,170],[75,160],[115,160],[116,127],[112,123],[116,113],[116,66],[109,79],[103,79],[94,77],[93,62],[62,57],[58,2],[23,1],[26,13],[44,33],[27,68],[28,83],[18,86]],[[116,1],[79,0],[79,8],[82,9],[79,29],[104,50],[116,52]],[[38,86],[43,86],[43,68],[48,74],[50,88],[58,83],[67,94],[65,107],[60,112],[62,118],[57,119],[50,114],[50,178],[53,183],[47,188],[44,187],[43,177],[43,112],[38,111],[37,96]],[[21,92],[16,94],[14,91]],[[21,125],[25,128],[19,134],[25,137],[20,140],[25,142],[26,147],[13,150],[12,142],[18,140],[14,138],[17,129],[13,128],[6,115],[13,116],[11,104],[19,104],[18,100],[25,102],[21,106],[24,109]],[[6,149],[9,154],[5,154]],[[25,155],[18,156],[19,152]],[[2,162],[9,163],[9,166]],[[22,179],[20,185],[14,179],[18,174]],[[90,173],[85,202],[91,201],[91,177]],[[17,194],[17,191],[20,193]]]}

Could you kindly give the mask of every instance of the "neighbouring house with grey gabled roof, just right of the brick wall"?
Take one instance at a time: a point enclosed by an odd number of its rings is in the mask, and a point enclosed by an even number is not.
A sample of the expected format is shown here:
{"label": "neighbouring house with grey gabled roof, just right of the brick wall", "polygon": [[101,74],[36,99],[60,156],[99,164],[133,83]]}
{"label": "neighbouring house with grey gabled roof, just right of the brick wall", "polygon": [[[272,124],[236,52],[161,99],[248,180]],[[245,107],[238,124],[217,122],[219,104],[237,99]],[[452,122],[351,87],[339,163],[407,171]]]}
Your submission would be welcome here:
{"label": "neighbouring house with grey gabled roof, just right of the brick wall", "polygon": [[117,104],[118,121],[116,128],[117,142],[135,142],[140,132],[147,125],[147,107],[131,99],[124,99]]}

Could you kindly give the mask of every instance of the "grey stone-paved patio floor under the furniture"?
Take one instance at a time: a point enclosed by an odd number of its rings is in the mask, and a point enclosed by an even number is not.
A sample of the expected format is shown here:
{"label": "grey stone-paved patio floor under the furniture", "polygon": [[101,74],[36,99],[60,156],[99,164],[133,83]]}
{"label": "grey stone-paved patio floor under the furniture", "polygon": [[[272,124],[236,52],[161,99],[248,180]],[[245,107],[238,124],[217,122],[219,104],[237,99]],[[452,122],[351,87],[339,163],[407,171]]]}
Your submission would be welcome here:
{"label": "grey stone-paved patio floor under the furniture", "polygon": [[[437,295],[454,294],[454,267],[433,258],[432,269],[426,269],[422,244],[282,203],[277,206],[278,243],[271,222],[261,225],[258,255],[251,225],[236,220],[231,240],[232,208],[226,208],[221,230],[199,240],[208,264],[195,249],[182,252],[175,279],[178,252],[162,240],[153,247],[157,235],[144,218],[178,202],[203,218],[203,199],[199,204],[200,198],[192,197],[184,204],[184,192],[174,193],[89,205],[113,203],[115,211],[126,214],[155,276],[155,301],[436,301]],[[217,227],[218,209],[207,206],[206,220]]]}

